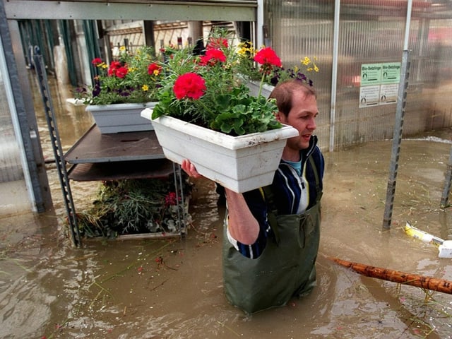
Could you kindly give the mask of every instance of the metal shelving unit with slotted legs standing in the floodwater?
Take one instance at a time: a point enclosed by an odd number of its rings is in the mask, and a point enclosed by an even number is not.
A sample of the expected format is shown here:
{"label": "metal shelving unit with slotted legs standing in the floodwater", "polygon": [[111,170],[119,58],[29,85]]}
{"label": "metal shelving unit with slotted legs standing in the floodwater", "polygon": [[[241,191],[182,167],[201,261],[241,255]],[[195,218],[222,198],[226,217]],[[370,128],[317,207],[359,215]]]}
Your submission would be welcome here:
{"label": "metal shelving unit with slotted legs standing in the floodwater", "polygon": [[[66,206],[66,216],[74,246],[81,246],[76,208],[71,194],[70,180],[108,181],[121,179],[167,179],[174,174],[174,189],[179,211],[178,232],[155,234],[154,237],[183,236],[186,234],[186,210],[182,186],[182,170],[179,165],[167,160],[154,131],[102,134],[96,125],[91,128],[66,152],[61,148],[61,139],[48,87],[44,61],[35,50],[35,67],[40,83],[40,92],[45,109],[52,150],[57,165],[61,191]],[[66,170],[66,165],[71,167]],[[184,205],[182,205],[184,206]]]}

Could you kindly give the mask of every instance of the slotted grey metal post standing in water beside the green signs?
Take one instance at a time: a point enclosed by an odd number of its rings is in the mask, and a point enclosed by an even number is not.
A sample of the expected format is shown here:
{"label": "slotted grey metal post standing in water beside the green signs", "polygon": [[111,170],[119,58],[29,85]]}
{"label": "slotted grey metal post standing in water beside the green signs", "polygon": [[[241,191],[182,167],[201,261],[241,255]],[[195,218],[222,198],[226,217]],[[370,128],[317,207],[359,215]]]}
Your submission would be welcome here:
{"label": "slotted grey metal post standing in water beside the green signs", "polygon": [[393,133],[393,148],[391,153],[391,165],[389,168],[388,188],[386,189],[386,204],[383,217],[383,228],[391,228],[393,215],[394,194],[396,194],[396,179],[398,169],[398,157],[400,154],[400,141],[402,141],[403,116],[407,98],[408,76],[410,70],[410,52],[403,51],[402,66],[400,69],[400,85],[397,94],[396,124]]}

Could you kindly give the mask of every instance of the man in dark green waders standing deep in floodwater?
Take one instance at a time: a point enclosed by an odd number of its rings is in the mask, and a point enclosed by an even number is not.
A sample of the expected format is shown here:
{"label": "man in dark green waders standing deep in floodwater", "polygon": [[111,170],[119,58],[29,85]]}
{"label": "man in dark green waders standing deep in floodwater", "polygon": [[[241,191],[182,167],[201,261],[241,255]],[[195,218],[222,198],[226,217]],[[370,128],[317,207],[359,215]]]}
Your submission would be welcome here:
{"label": "man in dark green waders standing deep in floodwater", "polygon": [[[278,105],[276,118],[299,136],[287,139],[273,184],[243,194],[225,189],[225,294],[247,314],[283,306],[316,284],[324,169],[313,134],[316,92],[300,81],[286,81],[270,97]],[[200,177],[189,160],[182,169]]]}

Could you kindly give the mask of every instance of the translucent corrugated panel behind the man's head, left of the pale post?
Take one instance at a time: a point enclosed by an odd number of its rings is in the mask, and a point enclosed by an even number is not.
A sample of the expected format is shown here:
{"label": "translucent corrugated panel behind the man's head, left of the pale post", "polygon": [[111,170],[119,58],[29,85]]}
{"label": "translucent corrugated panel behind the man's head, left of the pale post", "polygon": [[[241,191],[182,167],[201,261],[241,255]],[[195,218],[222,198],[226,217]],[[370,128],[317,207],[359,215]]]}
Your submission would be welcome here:
{"label": "translucent corrugated panel behind the man's head, left of the pale post", "polygon": [[319,93],[317,135],[321,146],[328,145],[333,55],[332,1],[265,1],[264,23],[268,23],[271,45],[285,67],[299,66],[304,57],[314,59],[319,72],[309,72]]}

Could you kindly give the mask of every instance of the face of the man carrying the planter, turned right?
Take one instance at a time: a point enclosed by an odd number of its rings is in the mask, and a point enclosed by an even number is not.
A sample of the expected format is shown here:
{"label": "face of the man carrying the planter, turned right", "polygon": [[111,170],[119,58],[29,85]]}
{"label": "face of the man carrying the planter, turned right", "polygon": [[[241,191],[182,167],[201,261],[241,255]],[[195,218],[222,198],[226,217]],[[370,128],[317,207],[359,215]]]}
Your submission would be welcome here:
{"label": "face of the man carrying the planter, turned right", "polygon": [[287,117],[279,112],[276,116],[282,124],[290,125],[299,131],[299,136],[287,140],[286,147],[297,151],[309,147],[309,139],[317,127],[317,114],[319,114],[319,109],[313,95],[306,96],[299,90],[294,92],[292,109]]}

